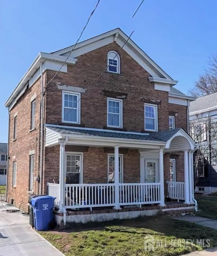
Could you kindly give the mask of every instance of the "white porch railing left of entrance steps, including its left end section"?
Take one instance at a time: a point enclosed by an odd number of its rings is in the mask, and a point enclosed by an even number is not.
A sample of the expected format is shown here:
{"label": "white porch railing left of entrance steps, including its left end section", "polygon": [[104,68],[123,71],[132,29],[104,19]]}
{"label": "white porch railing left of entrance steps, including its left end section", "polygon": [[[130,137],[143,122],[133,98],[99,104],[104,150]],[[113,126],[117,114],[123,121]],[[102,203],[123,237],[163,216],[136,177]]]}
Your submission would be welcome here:
{"label": "white porch railing left of entrance steps, including its left end section", "polygon": [[[115,184],[65,184],[65,208],[79,209],[115,206]],[[47,183],[47,194],[56,197],[59,207],[59,184]],[[160,203],[160,183],[120,183],[119,204]]]}

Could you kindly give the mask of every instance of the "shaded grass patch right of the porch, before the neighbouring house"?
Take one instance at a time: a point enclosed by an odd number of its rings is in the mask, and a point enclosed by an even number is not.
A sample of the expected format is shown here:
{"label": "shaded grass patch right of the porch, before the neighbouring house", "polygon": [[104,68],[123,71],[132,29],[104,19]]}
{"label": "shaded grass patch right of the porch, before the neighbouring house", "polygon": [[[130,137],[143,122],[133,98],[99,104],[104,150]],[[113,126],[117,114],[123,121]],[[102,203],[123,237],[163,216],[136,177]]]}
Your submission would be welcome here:
{"label": "shaded grass patch right of the porch, before the neighbouring house", "polygon": [[198,203],[198,216],[217,220],[217,197],[195,196]]}

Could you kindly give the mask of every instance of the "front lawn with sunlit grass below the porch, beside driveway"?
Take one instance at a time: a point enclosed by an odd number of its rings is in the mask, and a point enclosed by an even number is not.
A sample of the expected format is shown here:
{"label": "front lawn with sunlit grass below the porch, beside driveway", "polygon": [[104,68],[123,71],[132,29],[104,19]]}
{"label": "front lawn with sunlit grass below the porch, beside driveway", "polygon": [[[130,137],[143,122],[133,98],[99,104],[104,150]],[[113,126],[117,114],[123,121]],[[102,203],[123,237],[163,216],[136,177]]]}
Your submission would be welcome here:
{"label": "front lawn with sunlit grass below the porch, beside driveway", "polygon": [[[210,239],[211,247],[217,246],[217,231],[164,216],[95,225],[89,223],[39,233],[66,256],[176,256],[205,249],[196,243],[196,239]],[[154,251],[144,250],[147,235],[155,239]],[[186,244],[183,239],[195,240]],[[161,241],[163,245],[157,246],[156,243],[159,245]],[[172,241],[175,246],[171,245]]]}

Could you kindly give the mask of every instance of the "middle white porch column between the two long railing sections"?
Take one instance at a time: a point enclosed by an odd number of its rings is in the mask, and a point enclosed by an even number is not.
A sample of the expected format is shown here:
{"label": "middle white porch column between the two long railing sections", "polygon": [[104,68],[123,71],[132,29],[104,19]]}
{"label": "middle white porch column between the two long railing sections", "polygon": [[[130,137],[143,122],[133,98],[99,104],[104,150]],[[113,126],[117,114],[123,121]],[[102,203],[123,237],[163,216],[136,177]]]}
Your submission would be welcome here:
{"label": "middle white porch column between the two long railing sections", "polygon": [[119,198],[119,146],[115,146],[115,206],[114,209],[121,209]]}

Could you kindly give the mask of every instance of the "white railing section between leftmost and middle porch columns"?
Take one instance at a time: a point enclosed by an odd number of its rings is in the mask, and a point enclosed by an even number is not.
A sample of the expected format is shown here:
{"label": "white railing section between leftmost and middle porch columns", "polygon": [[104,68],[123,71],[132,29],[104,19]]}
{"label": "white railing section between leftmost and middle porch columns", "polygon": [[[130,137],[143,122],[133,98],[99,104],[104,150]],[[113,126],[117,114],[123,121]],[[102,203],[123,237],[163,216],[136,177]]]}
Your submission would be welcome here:
{"label": "white railing section between leftmost and middle porch columns", "polygon": [[65,207],[114,206],[114,184],[65,184]]}

